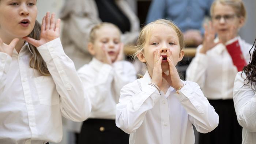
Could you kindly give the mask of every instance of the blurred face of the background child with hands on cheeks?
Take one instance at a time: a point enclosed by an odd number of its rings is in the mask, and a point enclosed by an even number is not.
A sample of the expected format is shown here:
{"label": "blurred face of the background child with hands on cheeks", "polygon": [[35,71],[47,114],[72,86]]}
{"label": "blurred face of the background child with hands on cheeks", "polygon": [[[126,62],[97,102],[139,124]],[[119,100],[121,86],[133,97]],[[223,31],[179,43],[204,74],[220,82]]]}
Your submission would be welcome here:
{"label": "blurred face of the background child with hands on cheeks", "polygon": [[103,26],[95,31],[95,40],[90,53],[102,61],[105,57],[102,49],[105,49],[114,62],[119,53],[120,45],[120,31],[113,26]]}

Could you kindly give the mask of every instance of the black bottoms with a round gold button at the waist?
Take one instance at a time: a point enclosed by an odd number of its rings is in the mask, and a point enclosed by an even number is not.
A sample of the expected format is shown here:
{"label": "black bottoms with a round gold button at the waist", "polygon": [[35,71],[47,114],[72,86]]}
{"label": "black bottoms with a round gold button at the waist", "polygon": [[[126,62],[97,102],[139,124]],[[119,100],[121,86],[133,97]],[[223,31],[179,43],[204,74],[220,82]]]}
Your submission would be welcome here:
{"label": "black bottoms with a round gold button at the waist", "polygon": [[129,134],[115,120],[88,119],[83,122],[78,144],[129,144]]}

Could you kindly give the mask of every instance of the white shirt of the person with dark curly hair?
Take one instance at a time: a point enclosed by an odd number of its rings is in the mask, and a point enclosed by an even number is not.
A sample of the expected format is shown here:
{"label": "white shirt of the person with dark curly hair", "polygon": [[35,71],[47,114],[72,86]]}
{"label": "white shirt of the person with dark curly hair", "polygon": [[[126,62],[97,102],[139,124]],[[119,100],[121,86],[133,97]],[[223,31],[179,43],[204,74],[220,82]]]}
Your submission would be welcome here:
{"label": "white shirt of the person with dark curly hair", "polygon": [[[236,75],[234,83],[234,106],[238,123],[243,127],[242,144],[256,144],[256,83],[244,85],[245,73]],[[248,83],[248,80],[245,81]],[[254,90],[253,90],[253,89]]]}

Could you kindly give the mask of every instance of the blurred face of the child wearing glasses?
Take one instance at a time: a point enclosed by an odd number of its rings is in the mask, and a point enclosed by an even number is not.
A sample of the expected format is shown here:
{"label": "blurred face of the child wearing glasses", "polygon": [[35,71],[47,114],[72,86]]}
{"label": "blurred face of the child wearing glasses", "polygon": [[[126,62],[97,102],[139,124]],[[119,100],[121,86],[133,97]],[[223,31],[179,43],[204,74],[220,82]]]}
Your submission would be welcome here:
{"label": "blurred face of the child wearing glasses", "polygon": [[213,8],[212,22],[218,37],[222,38],[232,30],[232,27],[237,34],[244,24],[244,18],[238,18],[235,10],[230,5],[217,2]]}

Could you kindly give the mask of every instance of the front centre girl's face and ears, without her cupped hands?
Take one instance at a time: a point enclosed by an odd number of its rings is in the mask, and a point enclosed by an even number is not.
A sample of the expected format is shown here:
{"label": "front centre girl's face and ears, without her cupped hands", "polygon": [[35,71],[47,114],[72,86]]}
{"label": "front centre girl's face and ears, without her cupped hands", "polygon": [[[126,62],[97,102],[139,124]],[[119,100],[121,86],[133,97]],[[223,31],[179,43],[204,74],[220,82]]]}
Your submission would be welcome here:
{"label": "front centre girl's face and ears, without her cupped hands", "polygon": [[150,37],[146,40],[144,50],[138,54],[138,58],[142,62],[146,62],[148,72],[153,72],[154,68],[154,52],[160,50],[162,60],[162,70],[166,72],[169,70],[169,64],[166,60],[167,50],[170,50],[173,57],[174,65],[183,58],[183,50],[180,50],[179,38],[172,28],[163,24],[157,24],[151,31]]}

